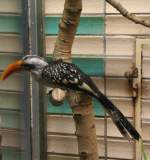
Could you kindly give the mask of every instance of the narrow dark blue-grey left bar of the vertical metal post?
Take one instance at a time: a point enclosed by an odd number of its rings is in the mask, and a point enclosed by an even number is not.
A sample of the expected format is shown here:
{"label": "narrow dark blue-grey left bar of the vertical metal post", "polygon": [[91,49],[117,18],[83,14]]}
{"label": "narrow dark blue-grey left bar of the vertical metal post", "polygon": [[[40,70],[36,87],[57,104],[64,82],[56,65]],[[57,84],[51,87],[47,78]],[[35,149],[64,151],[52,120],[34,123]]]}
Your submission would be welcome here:
{"label": "narrow dark blue-grey left bar of the vertical metal post", "polygon": [[[22,34],[23,34],[23,53],[29,53],[29,23],[28,23],[28,0],[22,0]],[[24,134],[23,138],[23,148],[24,157],[23,159],[32,159],[32,147],[31,147],[31,101],[30,101],[30,79],[28,74],[24,74],[24,94],[22,97],[22,112],[23,112],[23,124],[24,124]]]}

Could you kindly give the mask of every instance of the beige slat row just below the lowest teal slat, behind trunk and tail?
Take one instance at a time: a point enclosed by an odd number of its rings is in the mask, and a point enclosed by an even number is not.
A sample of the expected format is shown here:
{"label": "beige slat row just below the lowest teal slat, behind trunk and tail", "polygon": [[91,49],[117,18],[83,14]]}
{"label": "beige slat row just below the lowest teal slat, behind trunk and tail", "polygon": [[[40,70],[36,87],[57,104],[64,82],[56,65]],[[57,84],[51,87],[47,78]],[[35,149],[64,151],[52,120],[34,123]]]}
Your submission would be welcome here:
{"label": "beige slat row just below the lowest teal slat, behind trunk and tail", "polygon": [[[104,118],[95,118],[97,136],[122,137],[110,118],[107,119],[107,135],[105,135],[105,123]],[[75,135],[75,124],[72,116],[49,115],[47,117],[47,132],[48,134]]]}

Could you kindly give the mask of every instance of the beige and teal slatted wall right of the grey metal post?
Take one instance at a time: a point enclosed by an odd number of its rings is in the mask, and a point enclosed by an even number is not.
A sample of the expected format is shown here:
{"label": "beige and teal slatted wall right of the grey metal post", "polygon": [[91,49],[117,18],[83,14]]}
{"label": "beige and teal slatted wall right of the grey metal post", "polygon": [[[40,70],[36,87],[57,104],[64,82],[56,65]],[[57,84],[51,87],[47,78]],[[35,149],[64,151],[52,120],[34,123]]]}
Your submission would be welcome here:
{"label": "beige and teal slatted wall right of the grey metal post", "polygon": [[[130,12],[138,17],[150,20],[149,0],[118,0]],[[50,58],[58,31],[58,21],[63,10],[64,0],[45,0],[46,24],[46,53]],[[94,80],[118,108],[133,121],[134,112],[131,95],[129,94],[128,81],[124,73],[135,62],[136,37],[148,37],[150,29],[122,17],[109,4],[106,5],[106,28],[104,27],[104,1],[83,0],[83,11],[80,25],[75,38],[72,55],[73,61],[87,74],[94,76]],[[105,34],[106,31],[106,34]],[[105,36],[105,39],[104,39]],[[104,47],[106,46],[106,53]],[[150,46],[143,46],[143,82],[142,82],[142,130],[147,152],[150,153],[150,72],[149,72]],[[95,58],[99,58],[97,61]],[[75,61],[76,59],[76,61]],[[87,62],[87,64],[86,64]],[[84,63],[84,65],[82,65]],[[90,63],[90,68],[88,64]],[[94,65],[93,65],[94,64]],[[97,66],[97,67],[96,67]],[[102,68],[102,66],[104,68]],[[100,76],[106,75],[106,81]],[[96,76],[96,77],[95,77]],[[106,88],[104,88],[104,84]],[[97,116],[97,136],[101,145],[99,154],[104,156],[105,136],[104,112],[99,109],[99,104],[94,102],[95,115]],[[67,103],[61,107],[54,107],[48,103],[47,116],[48,160],[77,160],[77,142],[74,136],[75,126],[71,110]],[[133,159],[134,147],[122,139],[119,131],[112,121],[107,119],[107,159]],[[118,154],[119,153],[119,154]]]}

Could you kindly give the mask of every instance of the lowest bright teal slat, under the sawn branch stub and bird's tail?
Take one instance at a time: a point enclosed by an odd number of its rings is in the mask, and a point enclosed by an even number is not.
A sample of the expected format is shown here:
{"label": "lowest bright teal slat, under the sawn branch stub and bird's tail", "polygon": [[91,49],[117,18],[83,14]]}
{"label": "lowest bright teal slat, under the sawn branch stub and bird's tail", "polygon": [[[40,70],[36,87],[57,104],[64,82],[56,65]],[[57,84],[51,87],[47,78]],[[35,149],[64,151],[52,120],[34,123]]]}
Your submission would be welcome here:
{"label": "lowest bright teal slat, under the sawn branch stub and bird's tail", "polygon": [[[61,114],[68,114],[68,115],[72,114],[72,110],[67,101],[65,101],[61,106],[54,106],[49,101],[47,104],[48,104],[48,109],[47,109],[48,113],[60,114],[60,115]],[[93,99],[93,106],[94,106],[94,112],[96,116],[105,115],[102,105],[95,99]]]}

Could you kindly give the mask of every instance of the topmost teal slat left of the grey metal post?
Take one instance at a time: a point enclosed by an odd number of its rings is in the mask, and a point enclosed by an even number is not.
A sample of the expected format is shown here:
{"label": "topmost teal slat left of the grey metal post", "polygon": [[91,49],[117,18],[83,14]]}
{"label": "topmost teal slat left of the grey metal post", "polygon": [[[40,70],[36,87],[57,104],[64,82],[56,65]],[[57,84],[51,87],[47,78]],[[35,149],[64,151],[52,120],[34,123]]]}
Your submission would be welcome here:
{"label": "topmost teal slat left of the grey metal post", "polygon": [[0,32],[22,33],[22,17],[15,15],[0,15]]}

